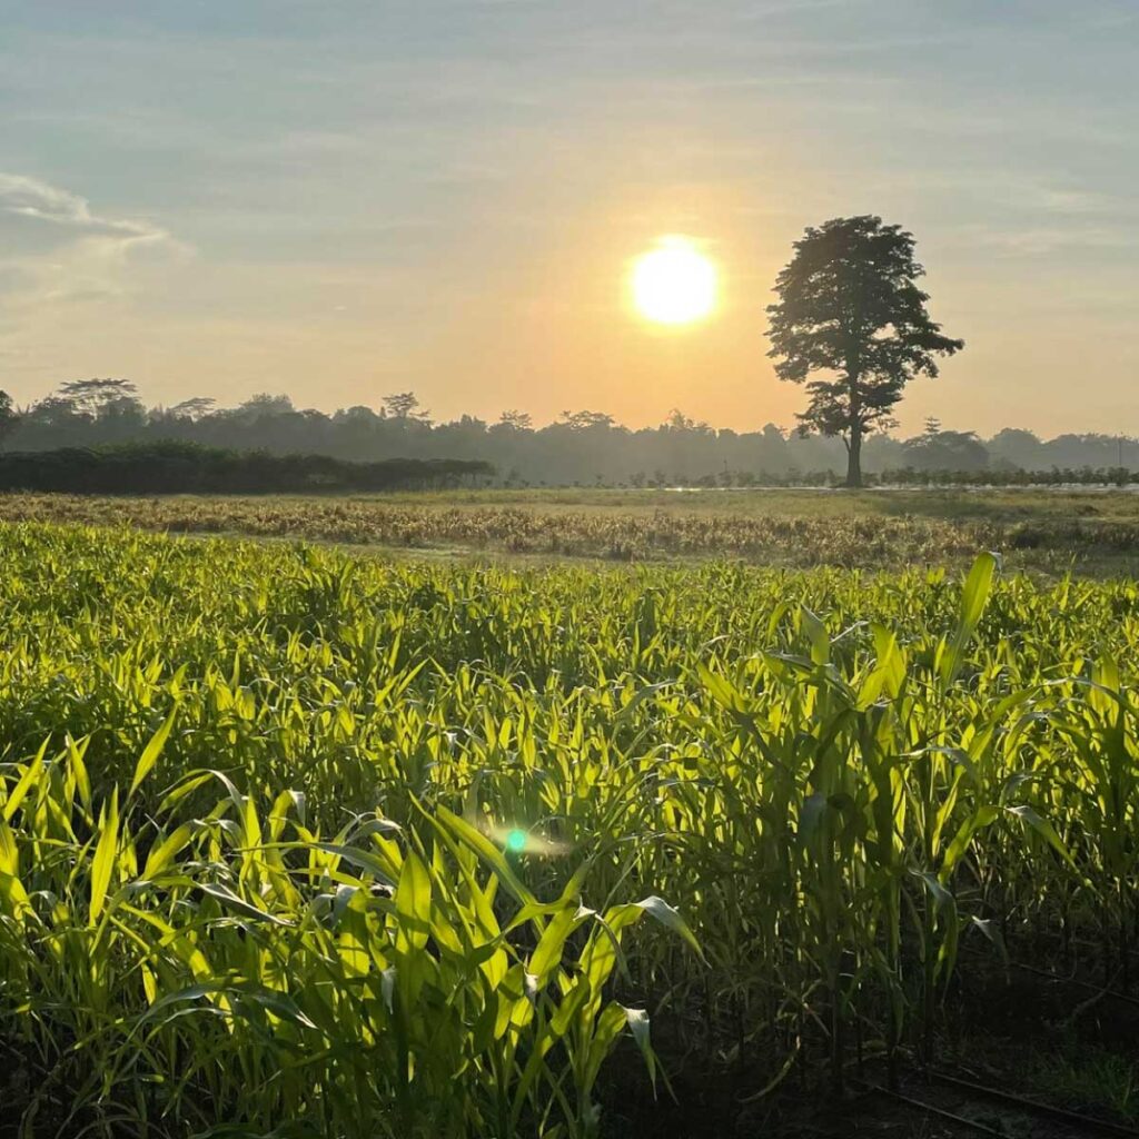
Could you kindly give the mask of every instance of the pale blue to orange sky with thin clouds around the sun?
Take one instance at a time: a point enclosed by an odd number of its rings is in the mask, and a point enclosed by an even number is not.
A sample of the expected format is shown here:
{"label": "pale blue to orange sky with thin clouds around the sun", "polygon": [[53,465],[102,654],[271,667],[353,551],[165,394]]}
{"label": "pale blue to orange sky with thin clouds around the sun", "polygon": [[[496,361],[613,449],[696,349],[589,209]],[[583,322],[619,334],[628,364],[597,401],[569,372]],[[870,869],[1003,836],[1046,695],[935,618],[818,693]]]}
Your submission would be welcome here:
{"label": "pale blue to orange sky with thin clouds around the sun", "polygon": [[875,213],[966,341],[903,434],[1139,433],[1137,69],[1137,0],[0,0],[0,387],[790,425],[775,277]]}

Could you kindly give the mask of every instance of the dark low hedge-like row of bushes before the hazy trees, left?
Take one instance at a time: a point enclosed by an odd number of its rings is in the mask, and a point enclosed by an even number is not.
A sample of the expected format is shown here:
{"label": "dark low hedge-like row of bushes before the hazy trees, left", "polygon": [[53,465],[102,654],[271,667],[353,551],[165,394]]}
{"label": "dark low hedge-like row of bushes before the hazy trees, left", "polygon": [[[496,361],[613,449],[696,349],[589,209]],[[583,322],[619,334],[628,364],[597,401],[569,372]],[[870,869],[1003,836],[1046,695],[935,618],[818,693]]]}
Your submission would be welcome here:
{"label": "dark low hedge-like row of bushes before the hazy trees, left", "polygon": [[493,474],[462,459],[347,462],[159,441],[0,453],[0,491],[71,494],[311,494],[457,486]]}

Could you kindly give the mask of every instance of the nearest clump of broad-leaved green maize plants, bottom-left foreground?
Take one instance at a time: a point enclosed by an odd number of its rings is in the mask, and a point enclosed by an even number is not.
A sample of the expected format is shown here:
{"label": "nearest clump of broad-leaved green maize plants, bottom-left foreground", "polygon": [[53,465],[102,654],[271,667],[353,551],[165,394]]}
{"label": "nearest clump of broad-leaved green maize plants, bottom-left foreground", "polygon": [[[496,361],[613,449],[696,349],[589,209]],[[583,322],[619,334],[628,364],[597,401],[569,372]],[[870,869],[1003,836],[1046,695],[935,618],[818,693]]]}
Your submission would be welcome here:
{"label": "nearest clump of broad-leaved green maize plants, bottom-left foreground", "polygon": [[[626,1029],[655,1071],[647,1015],[605,988],[646,913],[695,947],[661,899],[598,913],[575,876],[541,902],[445,809],[326,838],[300,796],[263,816],[220,771],[147,818],[172,721],[122,804],[92,802],[83,744],[3,779],[0,983],[44,1077],[28,1129],[67,1098],[62,1131],[589,1137]],[[203,779],[221,798],[180,819]]]}

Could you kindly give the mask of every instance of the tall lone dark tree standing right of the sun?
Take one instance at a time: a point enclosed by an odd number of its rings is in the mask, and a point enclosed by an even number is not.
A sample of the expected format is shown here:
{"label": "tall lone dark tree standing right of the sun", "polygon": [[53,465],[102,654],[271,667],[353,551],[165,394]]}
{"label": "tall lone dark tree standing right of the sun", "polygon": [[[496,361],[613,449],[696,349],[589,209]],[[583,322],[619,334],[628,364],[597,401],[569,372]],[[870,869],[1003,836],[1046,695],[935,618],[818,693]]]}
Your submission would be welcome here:
{"label": "tall lone dark tree standing right of the sun", "polygon": [[801,431],[846,444],[846,485],[862,485],[862,440],[895,424],[907,382],[936,376],[936,355],[964,341],[942,336],[916,285],[913,235],[880,218],[835,218],[808,229],[776,281],[769,336],[780,379],[806,384]]}

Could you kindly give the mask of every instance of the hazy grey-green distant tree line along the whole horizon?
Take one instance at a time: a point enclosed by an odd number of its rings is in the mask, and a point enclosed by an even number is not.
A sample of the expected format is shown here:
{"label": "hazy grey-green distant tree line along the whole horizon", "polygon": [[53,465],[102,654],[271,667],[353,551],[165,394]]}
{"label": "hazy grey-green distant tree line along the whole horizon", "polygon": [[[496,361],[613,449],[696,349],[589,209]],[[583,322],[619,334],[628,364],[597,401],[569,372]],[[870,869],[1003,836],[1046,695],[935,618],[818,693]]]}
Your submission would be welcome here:
{"label": "hazy grey-green distant tree line along the whole horizon", "polygon": [[[357,405],[330,415],[297,409],[287,395],[255,395],[235,408],[207,399],[147,408],[134,385],[120,379],[65,384],[27,408],[15,408],[0,393],[0,440],[8,453],[177,441],[358,464],[470,461],[490,465],[494,474],[483,467],[482,475],[464,477],[518,486],[827,484],[847,469],[841,439],[803,437],[775,424],[716,429],[680,411],[657,427],[632,429],[598,411],[566,411],[542,427],[519,411],[493,423],[474,416],[436,423],[411,392],[390,395],[375,409]],[[868,481],[1118,482],[1121,472],[1139,469],[1139,440],[1064,434],[1046,441],[1017,428],[981,439],[928,420],[910,439],[870,435],[861,459]],[[452,476],[409,477],[435,485]]]}

